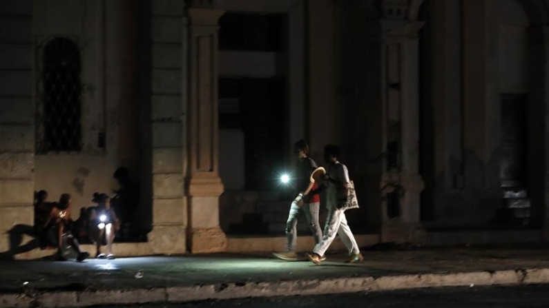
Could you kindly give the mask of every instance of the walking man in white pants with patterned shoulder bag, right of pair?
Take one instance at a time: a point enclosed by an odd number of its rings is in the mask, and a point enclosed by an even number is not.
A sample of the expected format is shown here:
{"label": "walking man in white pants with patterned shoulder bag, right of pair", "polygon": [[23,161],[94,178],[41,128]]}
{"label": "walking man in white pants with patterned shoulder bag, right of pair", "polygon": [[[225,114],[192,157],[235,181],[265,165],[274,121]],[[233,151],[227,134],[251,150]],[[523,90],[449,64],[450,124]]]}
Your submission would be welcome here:
{"label": "walking man in white pants with patterned shoulder bag, right of pair", "polygon": [[349,185],[349,172],[347,166],[338,161],[339,148],[336,145],[326,145],[324,147],[324,159],[327,163],[325,179],[322,183],[326,190],[326,207],[328,214],[326,217],[326,225],[324,227],[324,236],[320,243],[317,243],[313,249],[313,254],[307,254],[307,258],[314,264],[320,265],[322,257],[328,249],[331,242],[339,234],[343,244],[349,250],[348,263],[356,263],[364,260],[353,233],[347,225],[345,217],[345,209],[342,205],[347,199],[347,187]]}

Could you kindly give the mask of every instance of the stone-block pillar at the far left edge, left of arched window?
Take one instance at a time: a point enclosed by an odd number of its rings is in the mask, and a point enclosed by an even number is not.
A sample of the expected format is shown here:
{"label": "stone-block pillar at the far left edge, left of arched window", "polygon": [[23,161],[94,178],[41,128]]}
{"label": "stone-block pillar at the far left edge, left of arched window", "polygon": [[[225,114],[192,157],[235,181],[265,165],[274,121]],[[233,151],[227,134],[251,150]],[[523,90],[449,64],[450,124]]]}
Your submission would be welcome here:
{"label": "stone-block pillar at the far left edge, left of arched window", "polygon": [[35,107],[32,1],[0,6],[0,252],[8,231],[33,225]]}

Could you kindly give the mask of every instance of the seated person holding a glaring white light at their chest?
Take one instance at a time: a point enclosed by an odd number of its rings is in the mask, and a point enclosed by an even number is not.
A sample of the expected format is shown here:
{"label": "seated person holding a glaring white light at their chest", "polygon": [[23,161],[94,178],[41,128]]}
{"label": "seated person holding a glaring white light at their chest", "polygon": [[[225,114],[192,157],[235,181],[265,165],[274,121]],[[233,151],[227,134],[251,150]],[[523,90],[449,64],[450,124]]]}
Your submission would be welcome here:
{"label": "seated person holding a glaring white light at their chest", "polygon": [[[89,208],[88,234],[95,243],[97,251],[95,258],[114,259],[112,252],[115,233],[120,227],[113,207],[110,207],[110,197],[107,194],[93,194],[93,202],[97,207]],[[101,252],[101,246],[106,245],[107,254]]]}

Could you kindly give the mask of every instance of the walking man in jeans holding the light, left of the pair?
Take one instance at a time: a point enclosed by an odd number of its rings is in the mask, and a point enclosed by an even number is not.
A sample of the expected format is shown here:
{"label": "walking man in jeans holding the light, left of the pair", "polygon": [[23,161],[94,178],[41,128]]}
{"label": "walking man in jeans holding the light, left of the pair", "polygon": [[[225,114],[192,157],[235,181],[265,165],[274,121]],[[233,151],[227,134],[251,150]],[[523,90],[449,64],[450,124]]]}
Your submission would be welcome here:
{"label": "walking man in jeans holding the light, left of the pair", "polygon": [[318,225],[318,210],[320,209],[320,197],[316,188],[318,185],[314,185],[311,192],[307,196],[303,196],[303,192],[309,187],[309,177],[317,165],[313,158],[309,157],[309,145],[300,140],[293,145],[293,149],[298,156],[296,164],[296,189],[298,190],[298,196],[291,203],[288,220],[286,222],[286,250],[283,252],[273,253],[276,258],[292,261],[298,260],[296,254],[296,241],[297,241],[297,228],[298,216],[305,214],[307,223],[311,227],[311,232],[315,239],[315,243],[320,243],[322,238],[322,231]]}

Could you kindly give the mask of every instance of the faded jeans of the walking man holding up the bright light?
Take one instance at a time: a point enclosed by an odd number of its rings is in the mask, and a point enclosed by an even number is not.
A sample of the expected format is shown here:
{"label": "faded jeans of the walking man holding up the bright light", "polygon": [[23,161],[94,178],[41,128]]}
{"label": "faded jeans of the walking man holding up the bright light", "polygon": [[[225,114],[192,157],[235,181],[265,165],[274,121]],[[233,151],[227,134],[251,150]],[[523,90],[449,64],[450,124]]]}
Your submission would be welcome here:
{"label": "faded jeans of the walking man holding up the bright light", "polygon": [[295,251],[296,242],[298,239],[298,216],[300,213],[305,214],[307,223],[311,227],[313,232],[315,243],[320,243],[322,239],[322,230],[318,225],[318,211],[320,209],[320,203],[303,203],[302,206],[297,205],[295,202],[291,203],[290,213],[288,214],[288,220],[286,222],[286,251]]}

